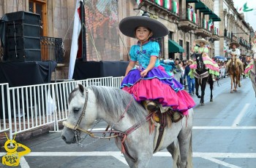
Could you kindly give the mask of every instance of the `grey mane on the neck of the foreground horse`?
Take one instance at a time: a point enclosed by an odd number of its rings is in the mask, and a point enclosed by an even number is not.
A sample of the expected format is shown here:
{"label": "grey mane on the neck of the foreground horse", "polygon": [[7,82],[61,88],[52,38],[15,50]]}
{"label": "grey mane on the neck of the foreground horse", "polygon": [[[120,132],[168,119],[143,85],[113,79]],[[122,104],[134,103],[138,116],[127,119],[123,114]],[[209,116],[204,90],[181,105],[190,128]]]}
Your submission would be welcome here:
{"label": "grey mane on the neck of the foreground horse", "polygon": [[89,88],[94,92],[97,98],[97,105],[103,108],[106,113],[120,117],[132,100],[127,108],[127,114],[133,121],[145,119],[145,116],[147,115],[146,111],[128,92],[114,87],[91,86]]}

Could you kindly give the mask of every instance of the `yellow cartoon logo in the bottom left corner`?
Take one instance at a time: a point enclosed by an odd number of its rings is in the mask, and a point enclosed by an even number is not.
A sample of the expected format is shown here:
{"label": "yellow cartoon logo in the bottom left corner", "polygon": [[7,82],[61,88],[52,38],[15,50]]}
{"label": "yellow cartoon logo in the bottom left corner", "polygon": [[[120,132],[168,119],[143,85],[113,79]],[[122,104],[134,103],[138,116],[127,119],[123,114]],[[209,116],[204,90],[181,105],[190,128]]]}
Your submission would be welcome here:
{"label": "yellow cartoon logo in the bottom left corner", "polygon": [[[4,143],[4,149],[7,151],[7,154],[1,159],[2,164],[10,167],[17,167],[20,164],[20,157],[28,154],[31,151],[28,147],[26,147],[26,145],[17,143],[14,139],[8,139],[7,142]],[[8,148],[8,145],[11,143],[14,145],[14,147]],[[18,147],[25,149],[25,151],[17,151]]]}

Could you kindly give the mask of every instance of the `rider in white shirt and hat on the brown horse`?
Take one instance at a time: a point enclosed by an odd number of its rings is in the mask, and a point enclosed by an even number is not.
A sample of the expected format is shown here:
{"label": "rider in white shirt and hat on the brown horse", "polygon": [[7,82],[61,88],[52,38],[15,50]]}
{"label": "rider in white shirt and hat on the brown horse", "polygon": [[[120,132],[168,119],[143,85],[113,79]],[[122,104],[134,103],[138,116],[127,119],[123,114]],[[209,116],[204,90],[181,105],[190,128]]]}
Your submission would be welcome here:
{"label": "rider in white shirt and hat on the brown horse", "polygon": [[[239,46],[240,45],[238,43],[236,43],[236,42],[230,43],[230,48],[231,49],[227,50],[227,53],[229,53],[231,55],[231,57],[236,57],[237,58],[236,61],[237,61],[238,65],[239,65],[240,71],[244,75],[244,64],[241,62],[241,60],[239,58],[240,57],[240,49],[238,49]],[[227,66],[226,72],[229,71],[230,63],[231,63],[231,60],[228,60],[227,61],[227,65],[226,65]]]}

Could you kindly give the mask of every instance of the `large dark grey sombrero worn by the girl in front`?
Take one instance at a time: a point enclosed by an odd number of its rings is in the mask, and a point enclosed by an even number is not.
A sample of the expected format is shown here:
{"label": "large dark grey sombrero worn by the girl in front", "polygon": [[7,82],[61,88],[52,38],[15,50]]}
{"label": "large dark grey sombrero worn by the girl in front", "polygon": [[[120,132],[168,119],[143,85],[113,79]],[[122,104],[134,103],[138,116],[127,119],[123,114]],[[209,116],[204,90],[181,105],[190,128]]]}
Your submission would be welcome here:
{"label": "large dark grey sombrero worn by the girl in front", "polygon": [[133,38],[135,38],[135,28],[140,26],[149,28],[153,32],[152,38],[160,38],[169,33],[165,25],[146,16],[125,17],[119,23],[121,33],[123,33],[125,36]]}

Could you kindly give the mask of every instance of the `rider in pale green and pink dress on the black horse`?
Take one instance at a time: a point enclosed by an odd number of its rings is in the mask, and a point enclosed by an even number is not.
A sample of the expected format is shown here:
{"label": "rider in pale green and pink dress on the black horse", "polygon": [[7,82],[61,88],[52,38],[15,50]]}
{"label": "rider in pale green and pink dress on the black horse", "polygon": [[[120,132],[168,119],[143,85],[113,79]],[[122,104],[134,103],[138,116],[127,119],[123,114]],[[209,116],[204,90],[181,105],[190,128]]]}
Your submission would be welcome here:
{"label": "rider in pale green and pink dress on the black horse", "polygon": [[[197,47],[195,44],[199,44],[200,47]],[[208,69],[208,72],[211,74],[211,77],[213,81],[215,81],[215,76],[219,76],[219,66],[217,63],[215,63],[214,60],[211,59],[211,57],[208,56],[209,49],[206,47],[206,45],[210,45],[208,41],[205,39],[197,39],[195,40],[194,49],[193,52],[196,54],[201,54],[203,56],[203,63],[206,65],[206,68]],[[192,69],[196,69],[196,66],[190,66]]]}

